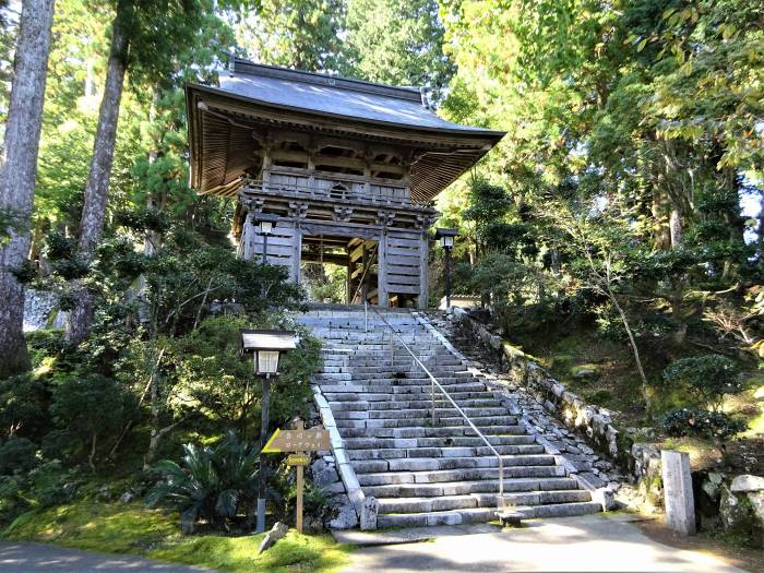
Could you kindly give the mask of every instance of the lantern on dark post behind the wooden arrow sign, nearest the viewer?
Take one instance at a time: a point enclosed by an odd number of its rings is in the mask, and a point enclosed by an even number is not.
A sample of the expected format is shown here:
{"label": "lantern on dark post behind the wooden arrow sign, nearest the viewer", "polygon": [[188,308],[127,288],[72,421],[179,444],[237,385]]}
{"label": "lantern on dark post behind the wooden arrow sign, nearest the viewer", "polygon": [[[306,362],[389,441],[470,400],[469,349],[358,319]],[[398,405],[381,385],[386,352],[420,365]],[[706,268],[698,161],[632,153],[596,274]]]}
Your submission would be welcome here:
{"label": "lantern on dark post behind the wooden arrow sign, nearest the viewer", "polygon": [[252,353],[254,373],[263,381],[260,426],[260,476],[258,482],[258,533],[265,530],[266,457],[262,449],[268,433],[271,409],[271,379],[278,375],[282,354],[297,347],[294,331],[241,330],[241,353]]}

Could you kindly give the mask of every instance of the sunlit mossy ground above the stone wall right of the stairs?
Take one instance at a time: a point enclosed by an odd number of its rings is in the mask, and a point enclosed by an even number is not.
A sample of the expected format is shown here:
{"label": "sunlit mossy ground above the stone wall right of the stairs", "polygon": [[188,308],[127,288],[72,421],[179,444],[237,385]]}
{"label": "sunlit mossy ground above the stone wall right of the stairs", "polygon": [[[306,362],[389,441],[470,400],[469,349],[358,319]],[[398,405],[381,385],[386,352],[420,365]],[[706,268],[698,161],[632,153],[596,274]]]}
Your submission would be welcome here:
{"label": "sunlit mossy ground above the stone wall right of the stairs", "polygon": [[[646,415],[641,381],[634,368],[630,347],[621,341],[599,336],[593,329],[576,327],[570,332],[545,332],[512,336],[511,344],[533,351],[533,358],[565,387],[589,404],[608,408],[620,428],[655,428],[659,434],[660,416],[673,408],[687,406],[688,396],[660,384],[666,366],[680,356],[707,354],[701,348],[673,348],[650,341],[640,341],[643,365],[650,381],[650,397],[655,411]],[[738,440],[727,444],[727,459],[740,471],[764,471],[764,373],[744,373],[743,392],[725,398],[723,409],[748,423]],[[635,440],[655,441],[655,435],[634,435]],[[717,466],[721,452],[717,444],[684,438],[669,440],[668,447],[690,453],[695,469]]]}

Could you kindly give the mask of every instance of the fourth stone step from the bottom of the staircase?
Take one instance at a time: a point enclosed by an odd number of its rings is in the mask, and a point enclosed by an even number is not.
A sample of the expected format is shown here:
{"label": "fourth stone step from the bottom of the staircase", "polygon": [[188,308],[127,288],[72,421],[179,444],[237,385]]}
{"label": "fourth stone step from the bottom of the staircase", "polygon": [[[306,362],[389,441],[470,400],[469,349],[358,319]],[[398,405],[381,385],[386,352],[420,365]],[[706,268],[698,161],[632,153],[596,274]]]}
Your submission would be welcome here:
{"label": "fourth stone step from the bottom of the staircase", "polygon": [[[361,486],[386,486],[391,484],[439,484],[444,481],[475,481],[499,479],[498,467],[461,469],[435,469],[427,471],[377,471],[358,474]],[[504,468],[504,480],[511,478],[566,477],[562,466],[510,466]]]}

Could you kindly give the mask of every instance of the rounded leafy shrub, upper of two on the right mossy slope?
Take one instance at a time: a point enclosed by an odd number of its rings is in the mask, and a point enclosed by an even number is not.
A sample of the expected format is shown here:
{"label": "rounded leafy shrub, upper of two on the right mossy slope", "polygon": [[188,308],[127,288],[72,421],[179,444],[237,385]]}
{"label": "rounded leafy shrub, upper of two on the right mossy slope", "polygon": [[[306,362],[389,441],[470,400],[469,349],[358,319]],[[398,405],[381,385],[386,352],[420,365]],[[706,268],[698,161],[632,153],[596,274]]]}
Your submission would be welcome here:
{"label": "rounded leafy shrub, upper of two on the right mossy slope", "polygon": [[664,381],[691,392],[714,411],[721,406],[725,394],[742,390],[737,365],[719,355],[694,356],[671,362],[664,370]]}

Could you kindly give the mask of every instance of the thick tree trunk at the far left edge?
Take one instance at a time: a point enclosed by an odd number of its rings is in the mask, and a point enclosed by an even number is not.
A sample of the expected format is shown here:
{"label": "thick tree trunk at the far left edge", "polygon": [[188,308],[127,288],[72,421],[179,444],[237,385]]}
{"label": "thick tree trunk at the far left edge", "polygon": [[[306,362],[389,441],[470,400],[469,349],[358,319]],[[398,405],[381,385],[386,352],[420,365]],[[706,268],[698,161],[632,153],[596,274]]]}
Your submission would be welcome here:
{"label": "thick tree trunk at the far left edge", "polygon": [[29,250],[53,4],[55,0],[22,3],[15,75],[0,157],[0,211],[13,220],[8,229],[10,240],[0,248],[0,378],[29,368],[24,339],[24,286],[13,271],[23,266]]}

